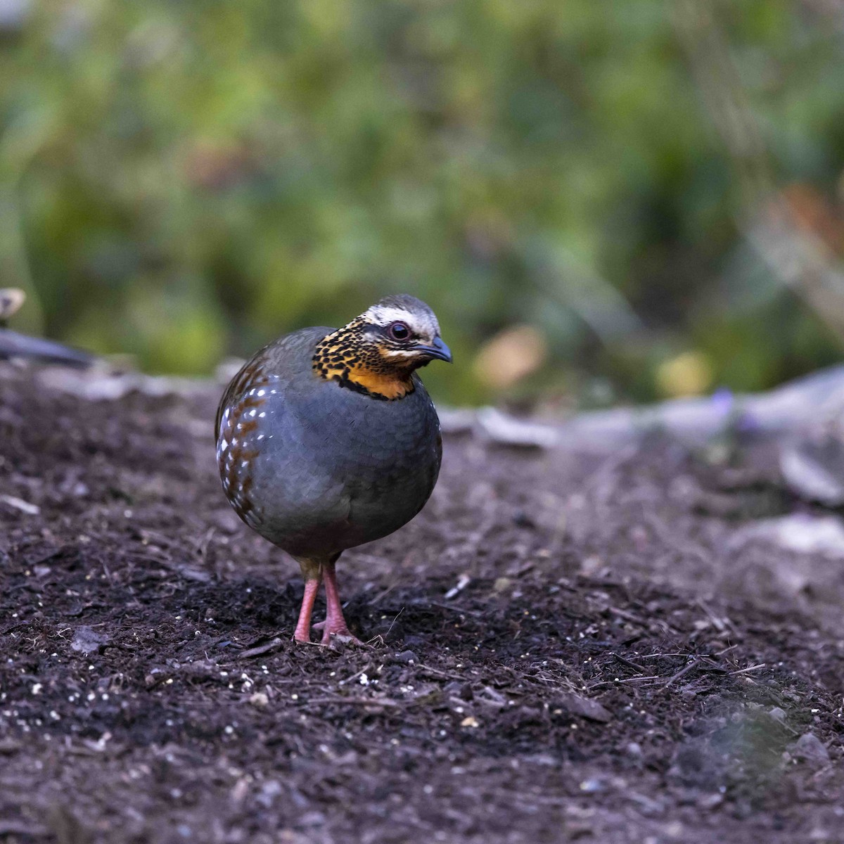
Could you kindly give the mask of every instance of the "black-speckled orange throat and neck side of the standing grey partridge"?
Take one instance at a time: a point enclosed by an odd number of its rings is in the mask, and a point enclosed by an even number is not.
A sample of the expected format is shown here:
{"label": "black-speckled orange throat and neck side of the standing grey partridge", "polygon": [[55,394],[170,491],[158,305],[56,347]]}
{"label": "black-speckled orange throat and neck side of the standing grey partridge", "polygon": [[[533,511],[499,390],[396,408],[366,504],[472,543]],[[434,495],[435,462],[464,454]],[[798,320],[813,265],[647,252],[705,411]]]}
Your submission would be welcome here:
{"label": "black-speckled orange throat and neck side of the standing grey partridge", "polygon": [[413,369],[400,368],[387,360],[376,344],[354,330],[354,323],[317,344],[313,368],[326,381],[362,392],[371,398],[393,401],[414,392]]}

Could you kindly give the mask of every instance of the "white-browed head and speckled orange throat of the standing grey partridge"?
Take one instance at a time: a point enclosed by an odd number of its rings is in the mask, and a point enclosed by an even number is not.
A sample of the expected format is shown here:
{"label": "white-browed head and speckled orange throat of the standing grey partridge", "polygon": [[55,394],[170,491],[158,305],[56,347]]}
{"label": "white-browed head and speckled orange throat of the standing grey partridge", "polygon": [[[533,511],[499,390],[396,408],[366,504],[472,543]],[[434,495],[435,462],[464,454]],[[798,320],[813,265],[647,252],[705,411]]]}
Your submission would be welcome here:
{"label": "white-browed head and speckled orange throat of the standing grey partridge", "polygon": [[452,362],[434,311],[414,296],[394,295],[322,338],[313,363],[322,378],[393,399],[414,391],[414,371],[431,360]]}

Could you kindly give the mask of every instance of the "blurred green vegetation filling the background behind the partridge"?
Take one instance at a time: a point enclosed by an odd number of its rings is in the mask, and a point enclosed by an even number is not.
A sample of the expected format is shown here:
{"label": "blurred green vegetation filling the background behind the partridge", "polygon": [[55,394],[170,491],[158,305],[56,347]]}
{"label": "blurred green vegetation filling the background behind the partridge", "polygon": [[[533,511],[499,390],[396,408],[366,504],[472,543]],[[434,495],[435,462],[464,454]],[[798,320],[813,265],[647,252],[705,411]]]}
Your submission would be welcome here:
{"label": "blurred green vegetation filling the background behind the partridge", "polygon": [[203,374],[388,292],[437,398],[841,358],[841,0],[0,0],[14,327]]}

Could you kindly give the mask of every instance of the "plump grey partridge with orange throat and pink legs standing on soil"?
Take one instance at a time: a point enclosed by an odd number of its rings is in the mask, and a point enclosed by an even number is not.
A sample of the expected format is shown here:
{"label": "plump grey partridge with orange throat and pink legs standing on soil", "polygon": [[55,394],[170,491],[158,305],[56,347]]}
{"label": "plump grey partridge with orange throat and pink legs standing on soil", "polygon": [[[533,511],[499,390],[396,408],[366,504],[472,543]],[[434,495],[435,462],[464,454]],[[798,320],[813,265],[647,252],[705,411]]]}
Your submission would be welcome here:
{"label": "plump grey partridge with orange throat and pink legs standing on soil", "polygon": [[344,327],[301,328],[264,346],[223,393],[215,436],[225,496],[305,581],[294,641],[311,641],[324,582],[321,644],[360,644],[336,564],[409,522],[434,489],[440,421],[417,372],[432,360],[452,362],[434,311],[389,295]]}

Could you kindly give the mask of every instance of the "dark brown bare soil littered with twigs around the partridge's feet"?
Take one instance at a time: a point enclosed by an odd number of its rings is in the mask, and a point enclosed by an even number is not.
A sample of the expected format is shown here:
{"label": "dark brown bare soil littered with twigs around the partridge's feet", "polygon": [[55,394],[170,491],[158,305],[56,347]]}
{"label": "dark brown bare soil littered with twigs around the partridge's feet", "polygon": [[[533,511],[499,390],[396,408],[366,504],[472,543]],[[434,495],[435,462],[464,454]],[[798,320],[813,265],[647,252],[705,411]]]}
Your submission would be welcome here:
{"label": "dark brown bare soil littered with twigs around the partridge's feet", "polygon": [[810,511],[770,445],[446,437],[333,651],[215,400],[0,364],[0,841],[844,841],[844,562],[748,538]]}

